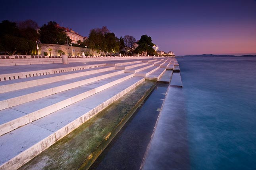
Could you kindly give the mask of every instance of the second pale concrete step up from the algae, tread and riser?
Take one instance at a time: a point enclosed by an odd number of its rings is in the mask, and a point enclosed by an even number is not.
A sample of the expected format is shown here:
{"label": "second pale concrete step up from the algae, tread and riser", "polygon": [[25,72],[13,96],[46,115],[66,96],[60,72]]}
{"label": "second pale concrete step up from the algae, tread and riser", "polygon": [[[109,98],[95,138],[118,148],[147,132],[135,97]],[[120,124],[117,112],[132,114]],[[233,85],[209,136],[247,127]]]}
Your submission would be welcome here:
{"label": "second pale concrete step up from the algae, tread and riser", "polygon": [[134,77],[123,73],[0,111],[0,135]]}

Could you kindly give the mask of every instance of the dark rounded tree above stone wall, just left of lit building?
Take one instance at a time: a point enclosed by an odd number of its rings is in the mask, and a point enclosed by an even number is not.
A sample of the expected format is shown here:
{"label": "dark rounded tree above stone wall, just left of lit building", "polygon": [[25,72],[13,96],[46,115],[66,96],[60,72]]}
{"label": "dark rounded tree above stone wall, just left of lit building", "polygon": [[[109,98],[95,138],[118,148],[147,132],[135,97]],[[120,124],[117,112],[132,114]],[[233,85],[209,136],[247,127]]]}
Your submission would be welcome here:
{"label": "dark rounded tree above stone wall, just left of lit building", "polygon": [[[48,24],[44,24],[40,30],[40,41],[42,43],[53,43],[65,45],[67,42],[67,34],[63,27],[57,25],[56,22],[50,21]],[[70,39],[70,38],[69,38]]]}

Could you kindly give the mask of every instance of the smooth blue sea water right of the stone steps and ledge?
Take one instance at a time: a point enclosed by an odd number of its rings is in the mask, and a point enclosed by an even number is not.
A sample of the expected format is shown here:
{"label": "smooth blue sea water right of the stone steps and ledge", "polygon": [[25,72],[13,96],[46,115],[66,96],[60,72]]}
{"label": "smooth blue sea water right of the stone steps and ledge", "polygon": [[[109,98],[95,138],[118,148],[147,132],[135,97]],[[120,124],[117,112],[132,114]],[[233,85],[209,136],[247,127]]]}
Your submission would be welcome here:
{"label": "smooth blue sea water right of the stone steps and ledge", "polygon": [[177,60],[191,170],[256,170],[256,57]]}

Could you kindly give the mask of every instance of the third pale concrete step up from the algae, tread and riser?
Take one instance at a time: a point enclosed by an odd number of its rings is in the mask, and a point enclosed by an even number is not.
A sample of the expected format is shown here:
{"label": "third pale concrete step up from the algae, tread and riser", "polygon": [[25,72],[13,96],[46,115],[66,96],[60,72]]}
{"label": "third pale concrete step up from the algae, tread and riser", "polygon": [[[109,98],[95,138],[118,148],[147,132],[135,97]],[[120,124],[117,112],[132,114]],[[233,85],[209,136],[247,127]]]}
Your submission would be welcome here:
{"label": "third pale concrete step up from the algae, tread and riser", "polygon": [[100,72],[87,76],[75,77],[73,79],[66,79],[63,81],[57,81],[54,83],[48,83],[44,85],[38,85],[35,87],[29,87],[26,89],[20,89],[16,91],[10,91],[0,94],[0,101],[3,104],[0,106],[0,110],[17,106],[26,102],[36,100],[45,96],[56,94],[65,90],[69,90],[75,87],[98,81],[100,79],[108,78],[118,74],[124,73],[124,70],[111,70],[107,72]]}

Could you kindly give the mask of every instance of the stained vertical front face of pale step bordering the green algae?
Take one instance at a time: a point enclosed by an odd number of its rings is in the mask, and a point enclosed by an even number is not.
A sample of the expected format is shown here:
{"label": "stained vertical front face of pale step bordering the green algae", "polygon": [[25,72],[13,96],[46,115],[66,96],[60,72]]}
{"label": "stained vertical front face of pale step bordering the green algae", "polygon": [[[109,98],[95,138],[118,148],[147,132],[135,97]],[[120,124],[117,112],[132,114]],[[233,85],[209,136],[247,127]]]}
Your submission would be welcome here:
{"label": "stained vertical front face of pale step bordering the green algae", "polygon": [[[76,120],[72,121],[65,127],[62,127],[61,129],[57,130],[50,136],[44,138],[37,144],[33,145],[32,147],[28,148],[27,150],[19,153],[19,155],[16,155],[14,158],[10,159],[9,161],[5,162],[4,164],[0,165],[0,170],[16,170],[17,168],[24,165],[26,162],[33,159],[35,156],[37,156],[39,153],[53,145],[55,142],[75,130],[75,128],[79,127],[82,123],[89,120],[91,117],[95,116],[97,113],[102,111],[104,108],[112,104],[115,100],[119,99],[121,96],[126,94],[127,92],[131,91],[135,87],[137,87],[139,84],[141,84],[143,81],[145,81],[146,78],[142,78],[141,80],[137,81],[136,83],[132,84],[131,86],[127,87],[123,91],[119,92],[118,94],[115,94],[110,99],[106,100],[102,104],[98,105],[96,108],[93,108],[89,112],[85,113],[81,117],[77,118]],[[87,115],[90,115],[87,117]],[[83,120],[83,121],[82,121]],[[66,133],[61,132],[62,129],[67,129],[68,131]],[[65,131],[65,130],[64,130]]]}

